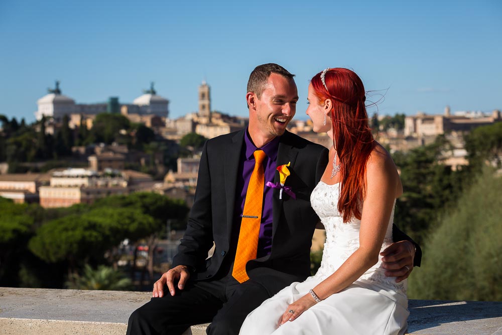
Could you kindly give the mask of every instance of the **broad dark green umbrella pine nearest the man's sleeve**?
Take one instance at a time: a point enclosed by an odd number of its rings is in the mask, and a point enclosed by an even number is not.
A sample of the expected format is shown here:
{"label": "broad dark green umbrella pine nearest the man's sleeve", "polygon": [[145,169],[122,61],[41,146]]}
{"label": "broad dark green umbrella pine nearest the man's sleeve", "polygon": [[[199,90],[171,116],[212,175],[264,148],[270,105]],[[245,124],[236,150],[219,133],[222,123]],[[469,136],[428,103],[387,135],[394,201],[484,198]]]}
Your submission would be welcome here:
{"label": "broad dark green umbrella pine nearest the man's sleeve", "polygon": [[[67,263],[71,279],[89,262],[114,264],[117,246],[124,239],[133,244],[147,239],[153,253],[157,235],[165,228],[167,220],[174,219],[176,227],[176,222],[187,212],[183,201],[156,193],[110,196],[92,205],[48,210],[46,218],[49,220],[37,230],[28,246],[45,262]],[[149,262],[150,259],[153,257]],[[149,271],[153,274],[153,265]]]}

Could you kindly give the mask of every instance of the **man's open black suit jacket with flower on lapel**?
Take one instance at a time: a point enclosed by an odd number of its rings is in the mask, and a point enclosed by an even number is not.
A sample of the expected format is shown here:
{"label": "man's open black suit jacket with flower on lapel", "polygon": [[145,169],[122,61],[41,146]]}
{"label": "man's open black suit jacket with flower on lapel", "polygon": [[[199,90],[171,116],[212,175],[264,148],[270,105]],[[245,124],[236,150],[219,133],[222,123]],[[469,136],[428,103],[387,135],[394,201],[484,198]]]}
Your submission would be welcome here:
{"label": "man's open black suit jacket with flower on lapel", "polygon": [[[225,264],[234,259],[235,232],[240,229],[240,222],[233,221],[235,188],[244,135],[245,129],[204,145],[187,230],[173,259],[173,267],[194,269],[191,280],[218,278],[221,269],[227,271]],[[310,205],[310,194],[326,168],[328,150],[286,131],[279,142],[277,164],[288,162],[291,175],[286,185],[296,199],[286,194],[279,199],[279,190],[274,189],[272,251],[246,265],[249,278],[260,282],[271,295],[310,275],[310,247],[319,221]],[[274,182],[278,181],[276,171]],[[207,258],[213,241],[214,253]]]}

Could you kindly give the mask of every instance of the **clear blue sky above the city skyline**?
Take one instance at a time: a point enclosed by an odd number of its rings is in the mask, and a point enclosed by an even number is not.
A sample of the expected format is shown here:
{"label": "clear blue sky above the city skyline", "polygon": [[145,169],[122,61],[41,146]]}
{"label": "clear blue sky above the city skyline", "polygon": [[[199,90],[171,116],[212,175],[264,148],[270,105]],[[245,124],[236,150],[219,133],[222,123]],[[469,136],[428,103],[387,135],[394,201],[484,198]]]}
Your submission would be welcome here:
{"label": "clear blue sky above the city skyline", "polygon": [[[247,115],[256,65],[295,73],[297,118],[325,67],[362,78],[380,114],[502,109],[502,1],[0,1],[0,114],[35,120],[56,79],[77,103],[132,102],[155,82],[172,117]],[[370,109],[370,113],[375,109]]]}

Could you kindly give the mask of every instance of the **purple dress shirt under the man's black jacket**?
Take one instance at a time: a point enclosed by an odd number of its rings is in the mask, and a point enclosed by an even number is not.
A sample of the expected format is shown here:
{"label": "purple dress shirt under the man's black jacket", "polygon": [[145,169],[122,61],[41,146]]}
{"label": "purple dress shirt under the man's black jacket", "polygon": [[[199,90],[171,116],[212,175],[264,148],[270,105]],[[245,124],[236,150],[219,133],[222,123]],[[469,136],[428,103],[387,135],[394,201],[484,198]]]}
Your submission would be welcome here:
{"label": "purple dress shirt under the man's black jacket", "polygon": [[[234,222],[240,222],[242,219],[241,215],[244,209],[247,186],[249,185],[249,179],[251,178],[251,174],[255,168],[255,157],[253,156],[253,153],[257,149],[261,149],[265,152],[267,155],[263,163],[265,167],[265,183],[268,181],[274,182],[277,168],[279,140],[280,137],[278,136],[262,148],[257,148],[246,130],[246,134],[244,136],[244,150],[242,150],[242,155],[240,157],[239,171],[237,173],[238,180],[235,188],[236,199],[234,206]],[[258,238],[257,258],[267,256],[272,251],[272,196],[273,188],[265,186],[263,191],[262,220],[260,223],[260,235]],[[239,230],[240,225],[239,229],[236,231],[237,238]]]}

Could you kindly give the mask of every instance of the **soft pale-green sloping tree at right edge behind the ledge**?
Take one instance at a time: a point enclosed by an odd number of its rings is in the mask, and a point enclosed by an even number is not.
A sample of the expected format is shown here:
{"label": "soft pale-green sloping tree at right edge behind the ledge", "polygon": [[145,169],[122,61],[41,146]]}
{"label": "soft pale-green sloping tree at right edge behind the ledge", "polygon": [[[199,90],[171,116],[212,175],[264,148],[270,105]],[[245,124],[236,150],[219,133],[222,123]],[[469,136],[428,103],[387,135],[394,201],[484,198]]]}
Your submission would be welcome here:
{"label": "soft pale-green sloping tree at right edge behind the ledge", "polygon": [[500,217],[502,178],[485,168],[427,239],[410,298],[502,300]]}

